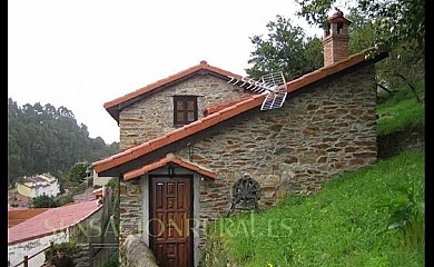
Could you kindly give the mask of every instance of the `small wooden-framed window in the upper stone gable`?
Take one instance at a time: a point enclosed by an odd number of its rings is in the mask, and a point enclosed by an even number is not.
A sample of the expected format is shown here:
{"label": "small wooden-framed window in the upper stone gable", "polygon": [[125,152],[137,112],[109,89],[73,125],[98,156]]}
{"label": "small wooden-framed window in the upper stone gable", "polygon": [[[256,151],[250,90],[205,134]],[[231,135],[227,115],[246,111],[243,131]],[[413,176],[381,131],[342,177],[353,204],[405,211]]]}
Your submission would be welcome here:
{"label": "small wooden-framed window in the upper stone gable", "polygon": [[174,97],[174,125],[183,126],[197,120],[197,97]]}

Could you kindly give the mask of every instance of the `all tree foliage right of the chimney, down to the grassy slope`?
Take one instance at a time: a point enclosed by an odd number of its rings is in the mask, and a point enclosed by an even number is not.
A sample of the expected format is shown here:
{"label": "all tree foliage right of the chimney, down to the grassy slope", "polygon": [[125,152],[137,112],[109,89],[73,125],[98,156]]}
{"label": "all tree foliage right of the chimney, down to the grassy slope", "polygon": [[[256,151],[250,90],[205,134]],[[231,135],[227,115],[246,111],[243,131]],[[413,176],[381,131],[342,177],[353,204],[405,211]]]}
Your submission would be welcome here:
{"label": "all tree foliage right of the chimney, down to the grassy slope", "polygon": [[326,27],[332,9],[345,7],[351,27],[349,51],[376,47],[389,57],[377,63],[377,85],[388,92],[410,87],[417,101],[417,86],[425,79],[425,1],[424,0],[296,0],[297,12],[308,23]]}

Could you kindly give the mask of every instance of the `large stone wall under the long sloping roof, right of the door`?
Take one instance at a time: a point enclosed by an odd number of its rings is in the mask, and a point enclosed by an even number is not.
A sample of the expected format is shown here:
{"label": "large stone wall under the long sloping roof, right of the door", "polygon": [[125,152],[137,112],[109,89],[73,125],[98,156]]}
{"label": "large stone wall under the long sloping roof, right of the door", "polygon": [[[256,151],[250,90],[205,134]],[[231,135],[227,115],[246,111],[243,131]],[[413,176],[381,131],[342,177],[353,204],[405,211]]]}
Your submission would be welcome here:
{"label": "large stone wall under the long sloping roof, right of the door", "polygon": [[[373,66],[287,100],[193,144],[191,161],[218,174],[200,184],[201,218],[226,214],[230,187],[244,172],[259,182],[260,206],[272,206],[376,160]],[[188,158],[188,149],[177,156]]]}

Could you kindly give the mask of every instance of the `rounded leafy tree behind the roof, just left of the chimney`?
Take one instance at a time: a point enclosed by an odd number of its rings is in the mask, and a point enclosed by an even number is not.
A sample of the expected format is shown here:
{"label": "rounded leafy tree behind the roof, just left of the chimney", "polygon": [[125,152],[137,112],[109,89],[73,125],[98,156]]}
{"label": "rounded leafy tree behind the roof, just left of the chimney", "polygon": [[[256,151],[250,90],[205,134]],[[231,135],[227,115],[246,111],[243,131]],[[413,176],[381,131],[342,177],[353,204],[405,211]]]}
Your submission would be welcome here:
{"label": "rounded leafy tree behind the roof, just left of the chimney", "polygon": [[250,52],[246,72],[254,79],[264,75],[283,72],[293,80],[323,66],[323,49],[317,37],[307,37],[303,28],[293,26],[290,19],[276,16],[267,23],[268,38],[250,37],[255,50]]}

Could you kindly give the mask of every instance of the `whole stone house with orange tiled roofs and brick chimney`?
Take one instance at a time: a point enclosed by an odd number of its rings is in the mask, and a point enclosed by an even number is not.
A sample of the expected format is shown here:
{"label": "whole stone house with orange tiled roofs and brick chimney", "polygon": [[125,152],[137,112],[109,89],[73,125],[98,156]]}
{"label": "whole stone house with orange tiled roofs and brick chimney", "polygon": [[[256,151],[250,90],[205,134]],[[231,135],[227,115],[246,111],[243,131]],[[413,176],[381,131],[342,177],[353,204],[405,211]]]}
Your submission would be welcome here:
{"label": "whole stone house with orange tiled roofs and brick chimney", "polygon": [[262,110],[253,81],[206,61],[105,103],[121,152],[92,167],[119,178],[120,243],[139,234],[160,266],[198,266],[206,224],[245,174],[260,208],[376,160],[375,63],[387,55],[348,55],[351,21],[329,22],[324,67],[285,82],[279,108]]}

